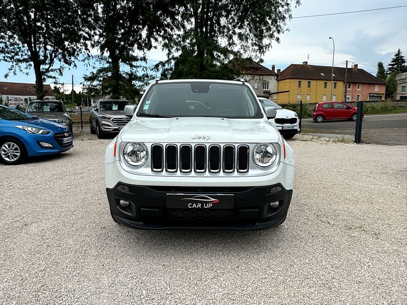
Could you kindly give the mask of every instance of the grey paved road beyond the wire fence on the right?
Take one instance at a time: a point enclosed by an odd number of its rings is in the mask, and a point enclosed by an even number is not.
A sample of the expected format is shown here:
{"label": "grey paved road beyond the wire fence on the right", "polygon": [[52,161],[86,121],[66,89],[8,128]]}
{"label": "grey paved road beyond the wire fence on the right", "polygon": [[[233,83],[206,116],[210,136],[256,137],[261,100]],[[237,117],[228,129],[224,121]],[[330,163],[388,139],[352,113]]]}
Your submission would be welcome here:
{"label": "grey paved road beyond the wire fence on the right", "polygon": [[[315,123],[303,119],[303,133],[355,135],[354,121],[332,120]],[[366,115],[362,123],[362,141],[383,145],[407,145],[407,114]]]}

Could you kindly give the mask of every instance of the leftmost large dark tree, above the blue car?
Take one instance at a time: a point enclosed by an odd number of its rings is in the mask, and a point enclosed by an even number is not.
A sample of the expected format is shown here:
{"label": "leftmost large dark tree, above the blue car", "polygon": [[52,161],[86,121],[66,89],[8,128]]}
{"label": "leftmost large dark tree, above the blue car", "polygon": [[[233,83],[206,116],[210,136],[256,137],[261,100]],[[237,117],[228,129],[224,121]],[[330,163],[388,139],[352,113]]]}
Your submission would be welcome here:
{"label": "leftmost large dark tree, above the blue car", "polygon": [[[85,0],[4,0],[0,2],[0,58],[10,63],[5,74],[34,70],[37,98],[43,83],[62,75],[86,48],[93,2]],[[26,73],[28,75],[28,72]]]}

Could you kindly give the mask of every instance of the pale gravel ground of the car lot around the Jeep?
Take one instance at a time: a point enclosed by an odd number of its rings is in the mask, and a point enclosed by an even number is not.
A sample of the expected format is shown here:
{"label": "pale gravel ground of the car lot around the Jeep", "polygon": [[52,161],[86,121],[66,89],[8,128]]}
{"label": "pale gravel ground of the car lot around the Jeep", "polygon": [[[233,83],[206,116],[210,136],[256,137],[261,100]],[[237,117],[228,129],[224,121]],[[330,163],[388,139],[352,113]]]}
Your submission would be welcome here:
{"label": "pale gravel ground of the car lot around the Jeep", "polygon": [[296,136],[280,227],[138,231],[110,219],[109,140],[81,138],[0,165],[0,302],[407,303],[406,146]]}

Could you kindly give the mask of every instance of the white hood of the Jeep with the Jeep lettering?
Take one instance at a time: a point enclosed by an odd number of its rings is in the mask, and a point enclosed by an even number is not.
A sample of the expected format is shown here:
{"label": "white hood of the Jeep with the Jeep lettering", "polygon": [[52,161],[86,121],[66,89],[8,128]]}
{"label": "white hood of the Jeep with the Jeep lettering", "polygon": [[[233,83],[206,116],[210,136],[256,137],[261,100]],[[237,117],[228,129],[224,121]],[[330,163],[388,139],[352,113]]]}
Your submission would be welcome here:
{"label": "white hood of the Jeep with the Jeep lettering", "polygon": [[278,131],[265,119],[218,117],[134,117],[121,132],[124,142],[259,143],[278,142],[279,138]]}

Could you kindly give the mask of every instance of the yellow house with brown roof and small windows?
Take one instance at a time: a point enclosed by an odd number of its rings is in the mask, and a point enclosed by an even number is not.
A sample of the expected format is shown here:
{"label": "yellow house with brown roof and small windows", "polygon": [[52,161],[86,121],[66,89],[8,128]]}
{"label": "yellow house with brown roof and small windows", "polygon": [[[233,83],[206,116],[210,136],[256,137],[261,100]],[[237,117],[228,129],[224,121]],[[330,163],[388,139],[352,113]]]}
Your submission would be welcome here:
{"label": "yellow house with brown roof and small windows", "polygon": [[[343,101],[343,68],[335,68],[332,81],[332,101]],[[278,72],[278,70],[277,70]],[[292,64],[280,72],[277,92],[270,98],[279,104],[318,103],[331,100],[332,67],[313,66],[304,62]]]}

